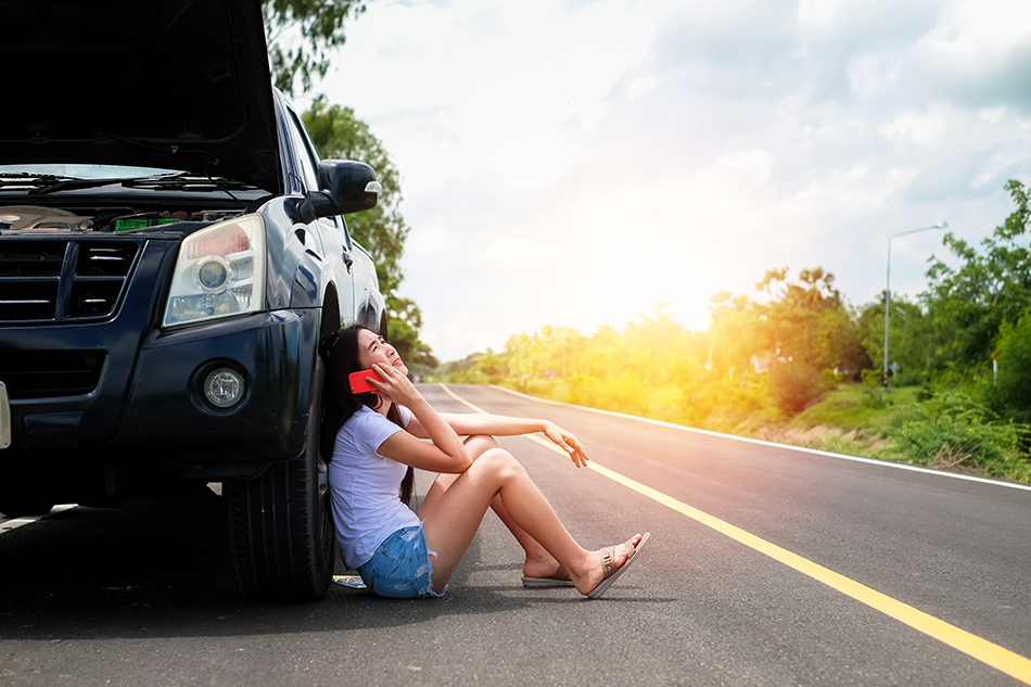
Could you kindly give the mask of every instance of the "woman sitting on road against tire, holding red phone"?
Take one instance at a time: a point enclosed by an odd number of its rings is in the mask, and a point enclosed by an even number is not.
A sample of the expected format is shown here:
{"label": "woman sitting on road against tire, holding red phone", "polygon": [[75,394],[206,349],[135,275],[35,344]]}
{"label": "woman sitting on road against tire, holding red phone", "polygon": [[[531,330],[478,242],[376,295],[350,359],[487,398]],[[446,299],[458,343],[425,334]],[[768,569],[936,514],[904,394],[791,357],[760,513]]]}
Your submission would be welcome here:
{"label": "woman sitting on road against tire, holding red phone", "polygon": [[[572,434],[545,420],[437,414],[394,347],[360,326],[331,335],[322,352],[329,364],[322,450],[332,455],[336,536],[344,563],[374,594],[442,596],[488,507],[526,552],[526,586],[575,586],[596,599],[636,560],[648,534],[584,549],[491,436],[543,432],[583,467],[587,455]],[[352,393],[348,376],[368,369],[382,378],[367,378],[378,391]],[[412,468],[441,473],[418,514],[407,506]]]}

